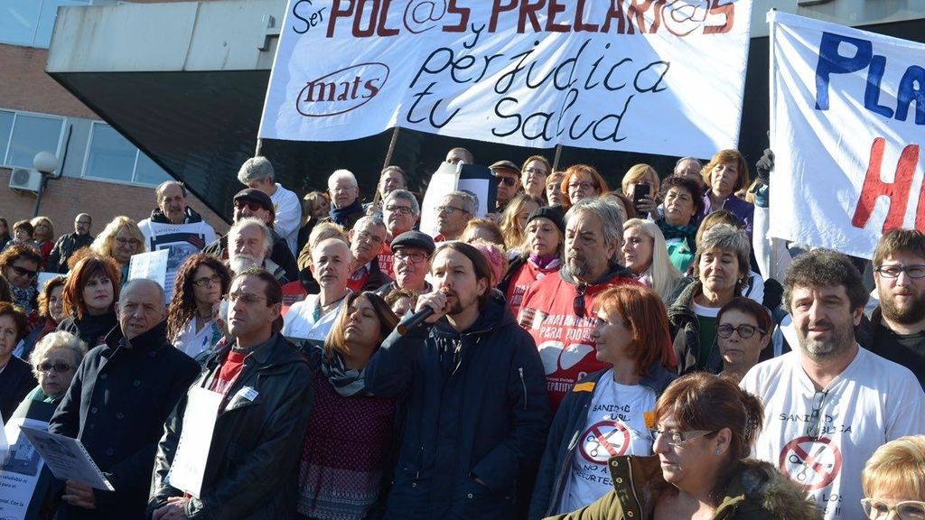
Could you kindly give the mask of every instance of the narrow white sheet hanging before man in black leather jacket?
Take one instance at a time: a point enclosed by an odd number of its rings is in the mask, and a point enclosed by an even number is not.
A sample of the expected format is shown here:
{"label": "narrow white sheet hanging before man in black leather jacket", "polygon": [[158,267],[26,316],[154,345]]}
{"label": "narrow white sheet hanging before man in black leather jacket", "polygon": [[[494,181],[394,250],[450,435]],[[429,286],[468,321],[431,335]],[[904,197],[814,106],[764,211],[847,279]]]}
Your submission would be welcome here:
{"label": "narrow white sheet hanging before man in black leather jacket", "polygon": [[218,407],[222,394],[193,387],[183,414],[183,429],[179,434],[177,453],[167,472],[171,486],[199,498],[203,488],[205,464],[212,446],[212,433],[216,428]]}

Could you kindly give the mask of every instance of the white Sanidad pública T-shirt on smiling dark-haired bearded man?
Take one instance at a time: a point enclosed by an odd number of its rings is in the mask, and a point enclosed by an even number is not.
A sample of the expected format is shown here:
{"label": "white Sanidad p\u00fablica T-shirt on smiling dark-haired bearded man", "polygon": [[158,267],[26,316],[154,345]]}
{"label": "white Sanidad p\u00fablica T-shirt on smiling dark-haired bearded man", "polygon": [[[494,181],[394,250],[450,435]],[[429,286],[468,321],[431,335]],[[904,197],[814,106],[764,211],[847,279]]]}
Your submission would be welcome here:
{"label": "white Sanidad p\u00fablica T-shirt on smiling dark-haired bearded man", "polygon": [[[862,520],[861,470],[870,455],[885,442],[925,433],[918,379],[862,348],[818,393],[796,352],[755,365],[741,386],[764,403],[753,456],[807,489],[826,520]],[[817,439],[807,431],[814,403],[820,410]]]}

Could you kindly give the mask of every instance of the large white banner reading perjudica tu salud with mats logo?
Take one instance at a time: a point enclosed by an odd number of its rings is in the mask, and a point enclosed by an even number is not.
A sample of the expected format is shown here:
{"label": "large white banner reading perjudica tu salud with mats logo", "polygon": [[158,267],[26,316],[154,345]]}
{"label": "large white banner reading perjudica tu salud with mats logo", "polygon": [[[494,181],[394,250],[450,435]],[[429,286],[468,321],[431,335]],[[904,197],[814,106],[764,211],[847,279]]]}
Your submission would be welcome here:
{"label": "large white banner reading perjudica tu salud with mats logo", "polygon": [[751,0],[290,0],[259,137],[401,127],[708,157],[738,141]]}

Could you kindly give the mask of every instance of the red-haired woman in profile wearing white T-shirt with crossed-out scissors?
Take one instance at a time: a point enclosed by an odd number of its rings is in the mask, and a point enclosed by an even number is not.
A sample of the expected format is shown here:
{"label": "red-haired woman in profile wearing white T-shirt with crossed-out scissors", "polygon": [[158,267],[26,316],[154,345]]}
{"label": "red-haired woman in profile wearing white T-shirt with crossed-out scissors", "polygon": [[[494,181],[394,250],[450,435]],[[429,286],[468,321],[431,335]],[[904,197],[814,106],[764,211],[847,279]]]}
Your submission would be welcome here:
{"label": "red-haired woman in profile wearing white T-shirt with crossed-out scissors", "polygon": [[[598,297],[591,338],[612,366],[578,381],[553,419],[529,518],[581,509],[612,489],[607,461],[651,455],[649,414],[675,378],[672,338],[658,294],[622,285]],[[577,441],[575,441],[577,440]]]}

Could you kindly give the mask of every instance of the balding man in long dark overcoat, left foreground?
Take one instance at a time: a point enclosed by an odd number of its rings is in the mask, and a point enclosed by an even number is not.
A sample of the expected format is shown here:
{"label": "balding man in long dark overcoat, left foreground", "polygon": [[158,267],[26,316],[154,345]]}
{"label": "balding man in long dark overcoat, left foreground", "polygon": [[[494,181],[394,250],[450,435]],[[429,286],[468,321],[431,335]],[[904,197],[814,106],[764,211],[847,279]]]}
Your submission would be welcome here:
{"label": "balding man in long dark overcoat, left foreground", "polygon": [[79,439],[115,491],[68,480],[68,519],[142,518],[164,421],[199,364],[166,338],[164,290],[132,279],[116,306],[119,327],[87,353],[49,423],[52,433]]}

